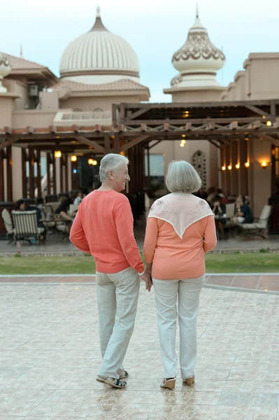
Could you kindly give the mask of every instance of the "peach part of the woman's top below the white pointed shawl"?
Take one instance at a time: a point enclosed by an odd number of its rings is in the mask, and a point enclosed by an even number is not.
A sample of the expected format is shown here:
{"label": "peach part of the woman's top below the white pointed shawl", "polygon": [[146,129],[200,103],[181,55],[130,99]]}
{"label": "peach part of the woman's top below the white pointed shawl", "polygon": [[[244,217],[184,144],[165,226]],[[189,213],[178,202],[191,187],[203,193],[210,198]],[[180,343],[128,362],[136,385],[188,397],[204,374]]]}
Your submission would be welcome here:
{"label": "peach part of the woman's top below the white pointed shawl", "polygon": [[206,216],[189,226],[183,238],[173,226],[158,218],[148,218],[143,251],[157,280],[195,279],[205,272],[205,255],[217,244],[214,216]]}

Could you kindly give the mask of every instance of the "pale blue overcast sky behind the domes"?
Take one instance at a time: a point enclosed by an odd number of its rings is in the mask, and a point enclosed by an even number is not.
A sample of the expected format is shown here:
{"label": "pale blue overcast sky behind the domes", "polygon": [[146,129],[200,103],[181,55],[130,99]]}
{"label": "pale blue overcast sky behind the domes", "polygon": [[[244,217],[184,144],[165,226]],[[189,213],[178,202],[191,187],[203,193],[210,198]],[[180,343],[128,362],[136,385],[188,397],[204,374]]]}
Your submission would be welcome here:
{"label": "pale blue overcast sky behind the domes", "polygon": [[[162,90],[177,71],[171,64],[194,23],[194,0],[11,0],[1,6],[0,51],[48,66],[59,76],[59,60],[73,38],[90,30],[101,7],[106,28],[136,51],[141,83],[152,102],[170,102]],[[199,16],[210,41],[223,48],[217,80],[228,85],[250,52],[279,51],[278,0],[200,0]]]}

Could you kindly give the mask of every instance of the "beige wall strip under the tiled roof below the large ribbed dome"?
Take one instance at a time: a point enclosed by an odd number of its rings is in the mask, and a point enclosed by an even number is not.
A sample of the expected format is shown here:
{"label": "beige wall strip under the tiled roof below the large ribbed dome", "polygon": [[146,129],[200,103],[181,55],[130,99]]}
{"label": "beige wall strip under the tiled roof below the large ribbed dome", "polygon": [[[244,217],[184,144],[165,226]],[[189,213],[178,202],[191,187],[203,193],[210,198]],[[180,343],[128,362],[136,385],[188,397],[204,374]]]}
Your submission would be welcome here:
{"label": "beige wall strip under the tiled roof below the large ribbed dome", "polygon": [[94,111],[102,109],[111,111],[112,104],[120,102],[139,102],[137,96],[115,96],[115,97],[70,97],[69,99],[60,99],[61,108],[80,109],[80,111]]}

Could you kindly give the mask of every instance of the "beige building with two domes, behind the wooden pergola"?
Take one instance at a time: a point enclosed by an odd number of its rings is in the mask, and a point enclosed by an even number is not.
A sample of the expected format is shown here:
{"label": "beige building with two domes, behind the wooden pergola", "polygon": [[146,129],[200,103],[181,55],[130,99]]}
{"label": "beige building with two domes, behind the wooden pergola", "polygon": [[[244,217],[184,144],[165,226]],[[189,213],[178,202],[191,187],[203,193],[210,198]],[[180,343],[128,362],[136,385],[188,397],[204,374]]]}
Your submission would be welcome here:
{"label": "beige building with two domes, behind the wooden pergola", "polygon": [[[184,104],[185,109],[189,104],[208,106],[210,102],[226,104],[279,98],[278,52],[250,54],[233,83],[228,87],[217,83],[215,76],[224,66],[224,53],[210,42],[199,13],[189,29],[187,41],[173,54],[172,63],[178,73],[164,93],[171,94],[172,102]],[[92,29],[74,39],[64,51],[60,78],[45,66],[0,53],[0,131],[8,141],[11,132],[20,133],[23,129],[28,133],[52,127],[55,132],[57,128],[63,130],[71,124],[73,127],[101,126],[104,131],[111,130],[113,104],[149,100],[149,89],[141,85],[139,76],[136,53],[127,41],[106,29],[98,9]],[[268,124],[276,123],[276,105],[273,116],[268,112],[261,114],[259,109],[261,123],[265,123],[264,118]],[[187,116],[185,111],[186,119]],[[65,148],[62,167],[61,160],[50,159],[50,153],[55,152],[53,148],[50,151],[45,151],[45,147],[37,148],[34,152],[31,148],[24,151],[20,141],[15,146],[6,144],[8,146],[0,151],[2,202],[29,195],[30,171],[34,172],[35,182],[41,179],[39,190],[42,195],[47,179],[53,178],[54,172],[52,192],[88,187],[83,185],[86,178],[89,183],[94,181],[87,172],[87,158],[92,155],[90,148],[80,148],[79,144],[72,144],[71,152]],[[198,170],[204,188],[222,187],[230,194],[250,195],[252,207],[259,216],[268,197],[278,193],[278,141],[266,137],[239,137],[219,146],[217,148],[206,138],[188,141],[187,135],[176,141],[161,141],[150,149],[150,176],[161,182],[171,160],[187,160]],[[71,155],[78,160],[74,169],[80,172],[76,185],[73,185]],[[264,167],[263,162],[266,163]],[[22,172],[26,172],[26,177],[22,177]],[[35,187],[38,195],[38,185]]]}

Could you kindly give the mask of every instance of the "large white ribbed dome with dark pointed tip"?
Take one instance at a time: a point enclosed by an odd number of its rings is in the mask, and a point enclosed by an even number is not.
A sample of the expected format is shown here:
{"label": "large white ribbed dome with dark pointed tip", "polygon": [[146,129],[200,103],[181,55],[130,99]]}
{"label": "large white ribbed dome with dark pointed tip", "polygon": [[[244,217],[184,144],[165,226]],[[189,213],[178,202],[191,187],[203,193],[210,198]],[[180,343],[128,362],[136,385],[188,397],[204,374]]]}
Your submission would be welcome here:
{"label": "large white ribbed dome with dark pointed tip", "polygon": [[127,41],[103,26],[98,8],[92,29],[66,47],[60,62],[60,74],[63,78],[88,75],[138,78],[138,57]]}

